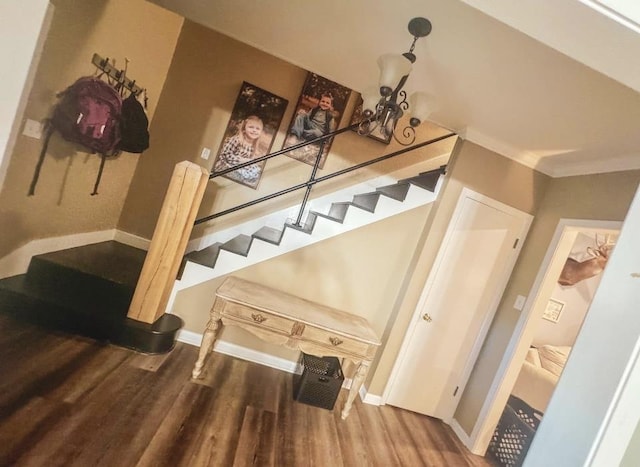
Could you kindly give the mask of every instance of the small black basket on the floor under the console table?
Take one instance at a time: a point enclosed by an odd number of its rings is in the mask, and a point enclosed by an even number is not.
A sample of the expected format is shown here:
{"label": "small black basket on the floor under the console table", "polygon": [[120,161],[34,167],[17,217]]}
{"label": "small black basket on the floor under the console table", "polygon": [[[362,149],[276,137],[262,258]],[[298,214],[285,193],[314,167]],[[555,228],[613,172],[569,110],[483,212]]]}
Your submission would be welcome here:
{"label": "small black basket on the floor under the console table", "polygon": [[295,375],[293,399],[303,404],[333,410],[344,381],[340,361],[336,357],[300,355],[302,374]]}

